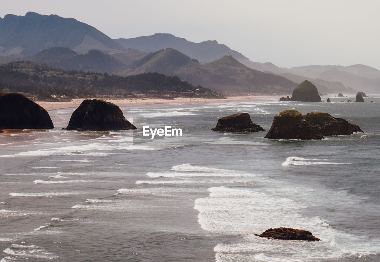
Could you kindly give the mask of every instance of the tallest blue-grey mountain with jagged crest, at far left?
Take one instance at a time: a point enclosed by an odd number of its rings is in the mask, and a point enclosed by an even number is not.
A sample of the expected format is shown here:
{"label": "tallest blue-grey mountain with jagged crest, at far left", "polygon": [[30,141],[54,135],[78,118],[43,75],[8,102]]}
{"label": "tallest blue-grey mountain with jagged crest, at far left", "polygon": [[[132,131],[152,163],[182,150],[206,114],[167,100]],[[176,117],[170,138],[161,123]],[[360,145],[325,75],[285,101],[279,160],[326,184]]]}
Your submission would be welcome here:
{"label": "tallest blue-grey mountain with jagged crest, at far left", "polygon": [[0,18],[0,55],[30,56],[50,47],[68,47],[78,53],[91,49],[125,50],[95,27],[73,18],[28,12]]}

